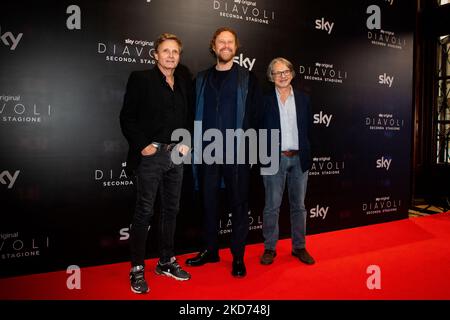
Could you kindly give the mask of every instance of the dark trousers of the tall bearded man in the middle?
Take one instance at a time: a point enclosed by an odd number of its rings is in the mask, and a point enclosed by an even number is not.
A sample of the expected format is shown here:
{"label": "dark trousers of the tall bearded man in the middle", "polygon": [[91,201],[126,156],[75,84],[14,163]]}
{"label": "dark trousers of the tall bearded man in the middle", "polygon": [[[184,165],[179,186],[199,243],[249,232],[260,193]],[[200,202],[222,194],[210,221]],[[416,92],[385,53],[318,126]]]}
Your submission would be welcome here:
{"label": "dark trousers of the tall bearded man in the middle", "polygon": [[219,190],[225,181],[226,198],[232,213],[231,253],[235,259],[243,259],[247,240],[248,187],[250,167],[248,165],[201,165],[200,182],[203,193],[204,236],[206,249],[219,249]]}

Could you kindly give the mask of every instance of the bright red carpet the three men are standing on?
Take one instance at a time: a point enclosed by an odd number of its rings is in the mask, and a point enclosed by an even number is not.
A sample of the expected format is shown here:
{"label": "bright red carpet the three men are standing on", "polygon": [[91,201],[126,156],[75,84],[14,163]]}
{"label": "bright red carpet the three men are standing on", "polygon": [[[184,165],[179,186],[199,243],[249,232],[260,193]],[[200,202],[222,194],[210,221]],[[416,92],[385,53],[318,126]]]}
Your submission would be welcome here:
{"label": "bright red carpet the three men are standing on", "polygon": [[[0,299],[148,300],[449,300],[450,212],[322,233],[307,237],[316,264],[290,255],[290,240],[279,242],[274,264],[262,266],[263,245],[247,247],[248,275],[230,275],[231,255],[221,262],[186,268],[190,281],[157,276],[148,260],[147,295],[131,293],[128,263],[81,270],[81,289],[68,290],[65,271],[0,279]],[[180,262],[192,254],[179,256]],[[381,289],[367,288],[370,265],[381,271]]]}

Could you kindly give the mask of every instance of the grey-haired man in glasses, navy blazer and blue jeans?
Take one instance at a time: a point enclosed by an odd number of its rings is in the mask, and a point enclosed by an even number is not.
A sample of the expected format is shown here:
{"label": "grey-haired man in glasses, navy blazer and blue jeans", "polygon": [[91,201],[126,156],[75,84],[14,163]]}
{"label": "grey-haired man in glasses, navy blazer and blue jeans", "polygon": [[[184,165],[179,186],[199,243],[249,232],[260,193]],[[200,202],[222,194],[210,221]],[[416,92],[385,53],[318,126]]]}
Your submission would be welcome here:
{"label": "grey-haired man in glasses, navy blazer and blue jeans", "polygon": [[[305,248],[305,195],[308,170],[311,168],[310,132],[311,106],[308,96],[293,89],[295,76],[292,63],[284,58],[273,59],[267,76],[274,89],[264,97],[260,128],[280,130],[280,163],[275,174],[263,174],[265,207],[263,215],[264,253],[260,262],[271,264],[276,256],[279,237],[278,219],[287,180],[291,215],[292,255],[301,262],[315,261]],[[270,135],[268,135],[270,137]],[[271,141],[268,140],[268,150]]]}

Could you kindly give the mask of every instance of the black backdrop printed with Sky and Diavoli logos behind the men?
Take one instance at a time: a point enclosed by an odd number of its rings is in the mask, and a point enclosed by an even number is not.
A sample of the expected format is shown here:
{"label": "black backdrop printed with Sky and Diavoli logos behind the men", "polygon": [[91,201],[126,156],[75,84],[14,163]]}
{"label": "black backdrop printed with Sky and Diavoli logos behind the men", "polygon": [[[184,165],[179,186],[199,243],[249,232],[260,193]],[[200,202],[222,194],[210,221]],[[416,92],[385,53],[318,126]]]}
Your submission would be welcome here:
{"label": "black backdrop printed with Sky and Diavoli logos behind the men", "polygon": [[[407,217],[413,1],[7,0],[0,8],[0,276],[129,259],[135,183],[124,170],[119,112],[130,72],[155,66],[162,32],[183,40],[193,77],[214,64],[208,46],[220,26],[237,30],[235,63],[264,90],[271,59],[293,62],[294,86],[310,95],[314,116],[308,234]],[[191,172],[186,165],[178,254],[201,245]],[[286,200],[282,238],[290,236]],[[258,243],[257,170],[250,201],[248,242]],[[154,231],[148,257],[157,256]]]}

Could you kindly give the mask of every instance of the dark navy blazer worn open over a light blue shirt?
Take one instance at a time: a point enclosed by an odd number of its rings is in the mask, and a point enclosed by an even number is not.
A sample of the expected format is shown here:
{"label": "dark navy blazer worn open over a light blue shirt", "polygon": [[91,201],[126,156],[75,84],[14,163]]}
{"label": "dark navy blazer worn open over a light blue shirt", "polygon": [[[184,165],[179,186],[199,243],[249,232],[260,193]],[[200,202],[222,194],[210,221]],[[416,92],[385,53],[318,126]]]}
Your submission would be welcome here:
{"label": "dark navy blazer worn open over a light blue shirt", "polygon": [[[275,87],[269,94],[264,96],[263,110],[260,116],[260,129],[278,129],[280,130],[278,151],[281,152],[281,124],[280,124],[280,110],[278,108],[278,99]],[[294,89],[295,110],[297,114],[297,128],[298,128],[298,144],[299,144],[299,158],[302,171],[305,172],[311,169],[311,127],[312,114],[311,102],[309,97]],[[267,135],[267,150],[271,150],[270,131]]]}

